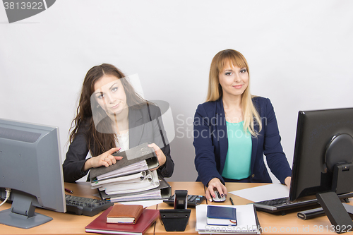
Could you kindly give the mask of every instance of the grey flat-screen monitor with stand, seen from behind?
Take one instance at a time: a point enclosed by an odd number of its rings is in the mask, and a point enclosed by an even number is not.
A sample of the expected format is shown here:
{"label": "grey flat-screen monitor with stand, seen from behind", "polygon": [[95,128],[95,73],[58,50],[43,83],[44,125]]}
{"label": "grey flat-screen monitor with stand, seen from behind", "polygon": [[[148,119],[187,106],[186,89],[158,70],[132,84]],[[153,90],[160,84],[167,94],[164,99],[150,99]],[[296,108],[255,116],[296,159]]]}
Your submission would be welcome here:
{"label": "grey flat-screen monitor with stand, seen from behind", "polygon": [[59,129],[0,119],[0,224],[28,229],[52,220],[35,212],[42,207],[66,212]]}

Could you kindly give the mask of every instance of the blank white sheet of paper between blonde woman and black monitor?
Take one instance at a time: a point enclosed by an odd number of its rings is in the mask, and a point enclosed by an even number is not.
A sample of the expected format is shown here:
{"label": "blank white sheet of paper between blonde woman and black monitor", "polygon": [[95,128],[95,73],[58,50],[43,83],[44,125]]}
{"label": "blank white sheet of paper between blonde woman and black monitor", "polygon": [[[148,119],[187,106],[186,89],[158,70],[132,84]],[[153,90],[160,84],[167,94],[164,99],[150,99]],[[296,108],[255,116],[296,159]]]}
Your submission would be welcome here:
{"label": "blank white sheet of paper between blonde woman and black monitor", "polygon": [[288,197],[289,189],[283,184],[271,183],[264,186],[232,191],[230,193],[253,202],[261,202],[263,200]]}

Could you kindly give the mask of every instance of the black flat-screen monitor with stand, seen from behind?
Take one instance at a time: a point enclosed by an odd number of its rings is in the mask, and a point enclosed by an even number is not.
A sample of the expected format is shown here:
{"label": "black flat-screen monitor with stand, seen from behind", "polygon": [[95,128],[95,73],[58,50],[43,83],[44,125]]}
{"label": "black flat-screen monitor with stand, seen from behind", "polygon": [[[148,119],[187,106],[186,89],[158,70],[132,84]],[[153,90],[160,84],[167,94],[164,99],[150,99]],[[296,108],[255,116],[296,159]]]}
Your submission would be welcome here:
{"label": "black flat-screen monitor with stand, seen from behind", "polygon": [[289,200],[316,195],[333,226],[352,230],[352,219],[337,197],[352,191],[353,108],[300,111]]}

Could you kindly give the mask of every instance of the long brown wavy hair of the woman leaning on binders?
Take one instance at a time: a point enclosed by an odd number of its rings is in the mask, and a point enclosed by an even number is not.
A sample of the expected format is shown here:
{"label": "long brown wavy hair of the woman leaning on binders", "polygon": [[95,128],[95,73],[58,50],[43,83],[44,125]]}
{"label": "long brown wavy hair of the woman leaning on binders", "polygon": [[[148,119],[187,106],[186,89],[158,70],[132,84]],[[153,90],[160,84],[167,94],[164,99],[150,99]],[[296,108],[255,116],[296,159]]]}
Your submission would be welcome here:
{"label": "long brown wavy hair of the woman leaning on binders", "polygon": [[[101,155],[103,152],[116,147],[116,136],[114,133],[102,133],[97,131],[92,117],[92,108],[90,97],[95,92],[95,83],[100,80],[102,76],[109,75],[116,78],[124,78],[125,75],[118,68],[111,64],[101,64],[90,68],[83,80],[83,86],[80,94],[80,100],[76,110],[76,117],[71,122],[69,142],[72,143],[75,136],[78,134],[78,128],[85,125],[88,128],[86,135],[86,142],[92,157]],[[121,79],[126,94],[126,103],[128,107],[133,109],[139,108],[143,104],[148,103],[140,95],[138,95],[130,83],[126,79]],[[107,120],[110,121],[110,120]]]}

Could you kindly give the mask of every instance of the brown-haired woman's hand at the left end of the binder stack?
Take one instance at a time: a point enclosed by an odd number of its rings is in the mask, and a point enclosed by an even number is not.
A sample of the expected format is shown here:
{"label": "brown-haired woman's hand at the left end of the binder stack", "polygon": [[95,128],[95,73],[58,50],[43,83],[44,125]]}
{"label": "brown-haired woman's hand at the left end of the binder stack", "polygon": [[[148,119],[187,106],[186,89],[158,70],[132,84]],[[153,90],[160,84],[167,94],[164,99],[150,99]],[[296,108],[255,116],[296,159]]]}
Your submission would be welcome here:
{"label": "brown-haired woman's hand at the left end of the binder stack", "polygon": [[102,153],[97,157],[91,157],[83,165],[83,171],[87,171],[88,169],[102,167],[102,166],[109,167],[112,164],[115,164],[116,161],[119,161],[123,158],[120,156],[117,157],[112,155],[114,152],[117,152],[119,150],[120,150],[120,147],[112,147],[110,150]]}

